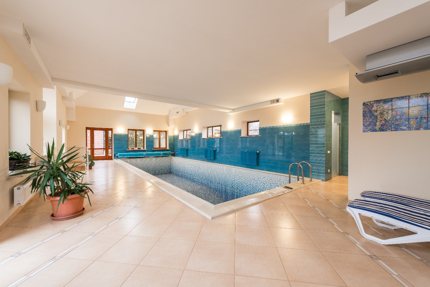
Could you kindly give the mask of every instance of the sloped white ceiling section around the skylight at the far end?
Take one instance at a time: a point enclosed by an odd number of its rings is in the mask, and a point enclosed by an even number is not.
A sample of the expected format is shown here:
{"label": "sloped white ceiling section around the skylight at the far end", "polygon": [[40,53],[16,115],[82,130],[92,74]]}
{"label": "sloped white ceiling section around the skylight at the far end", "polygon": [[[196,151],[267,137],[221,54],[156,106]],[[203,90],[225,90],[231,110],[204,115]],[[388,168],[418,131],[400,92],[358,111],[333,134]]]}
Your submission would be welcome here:
{"label": "sloped white ceiling section around the skylight at the far end", "polygon": [[98,92],[86,92],[79,98],[75,98],[78,107],[93,107],[108,110],[124,110],[135,113],[152,113],[156,115],[168,115],[173,107],[182,107],[174,104],[166,104],[154,101],[138,99],[135,109],[126,109],[124,100],[126,97],[110,95]]}

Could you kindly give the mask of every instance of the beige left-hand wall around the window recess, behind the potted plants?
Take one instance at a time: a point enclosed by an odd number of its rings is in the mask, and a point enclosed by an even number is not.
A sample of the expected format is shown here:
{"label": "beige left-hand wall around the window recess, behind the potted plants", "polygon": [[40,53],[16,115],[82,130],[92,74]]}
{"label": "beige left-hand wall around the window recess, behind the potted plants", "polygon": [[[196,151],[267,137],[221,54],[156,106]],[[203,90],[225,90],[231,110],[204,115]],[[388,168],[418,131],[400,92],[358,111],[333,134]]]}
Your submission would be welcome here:
{"label": "beige left-hand wall around the window recess, behind the potted plants", "polygon": [[[36,100],[42,100],[42,87],[22,64],[15,53],[0,37],[0,62],[13,68],[15,79],[28,93],[30,93],[30,145],[38,153],[43,152],[43,114],[36,110]],[[9,174],[9,101],[8,87],[0,87],[0,226],[12,215],[17,208],[13,206],[13,186],[20,179],[6,179]]]}

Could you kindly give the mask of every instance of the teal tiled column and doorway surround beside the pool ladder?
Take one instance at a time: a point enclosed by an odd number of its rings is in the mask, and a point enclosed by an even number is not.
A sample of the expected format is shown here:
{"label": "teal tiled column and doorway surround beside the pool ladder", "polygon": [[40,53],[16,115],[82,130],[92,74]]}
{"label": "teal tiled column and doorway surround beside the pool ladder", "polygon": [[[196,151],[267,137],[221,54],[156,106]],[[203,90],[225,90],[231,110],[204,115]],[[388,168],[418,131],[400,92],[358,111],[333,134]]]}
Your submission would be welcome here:
{"label": "teal tiled column and doorway surround beside the pool ladder", "polygon": [[332,111],[341,113],[339,175],[348,175],[348,100],[328,91],[310,94],[310,164],[317,179],[332,179]]}

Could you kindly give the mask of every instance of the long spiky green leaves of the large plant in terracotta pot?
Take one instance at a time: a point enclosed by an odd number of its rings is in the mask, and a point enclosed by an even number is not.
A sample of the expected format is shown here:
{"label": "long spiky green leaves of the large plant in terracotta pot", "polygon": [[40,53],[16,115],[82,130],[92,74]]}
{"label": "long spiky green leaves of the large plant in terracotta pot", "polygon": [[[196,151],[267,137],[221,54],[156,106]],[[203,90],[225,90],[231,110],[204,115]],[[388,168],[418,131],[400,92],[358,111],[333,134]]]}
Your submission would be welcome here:
{"label": "long spiky green leaves of the large plant in terracotta pot", "polygon": [[[57,211],[60,203],[64,203],[68,195],[78,194],[84,198],[88,198],[89,201],[89,192],[92,192],[92,189],[89,188],[91,183],[84,183],[83,176],[85,175],[85,172],[77,171],[75,169],[78,165],[83,163],[73,163],[73,165],[69,166],[69,164],[80,156],[78,150],[72,147],[63,153],[63,144],[58,155],[55,156],[54,146],[54,140],[52,140],[51,147],[49,146],[49,143],[47,144],[46,157],[41,156],[28,146],[31,152],[39,158],[39,160],[32,166],[37,169],[22,171],[13,175],[29,174],[24,180],[24,183],[32,179],[31,193],[39,192],[39,197],[43,195],[43,199],[45,199],[47,191],[49,191],[49,195],[52,197],[59,196],[60,200],[58,201]],[[20,169],[24,168],[18,168],[17,170]],[[86,193],[87,196],[83,193]],[[91,202],[89,202],[89,204],[91,205]]]}

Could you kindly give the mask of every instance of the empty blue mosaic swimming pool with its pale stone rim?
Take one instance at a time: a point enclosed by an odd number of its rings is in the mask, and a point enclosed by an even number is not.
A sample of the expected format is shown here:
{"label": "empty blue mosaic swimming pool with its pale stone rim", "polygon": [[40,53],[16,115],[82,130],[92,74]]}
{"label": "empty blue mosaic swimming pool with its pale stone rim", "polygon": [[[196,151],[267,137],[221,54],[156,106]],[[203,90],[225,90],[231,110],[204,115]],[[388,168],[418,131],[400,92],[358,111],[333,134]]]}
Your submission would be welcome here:
{"label": "empty blue mosaic swimming pool with its pale stone rim", "polygon": [[209,219],[320,181],[176,157],[118,161]]}

